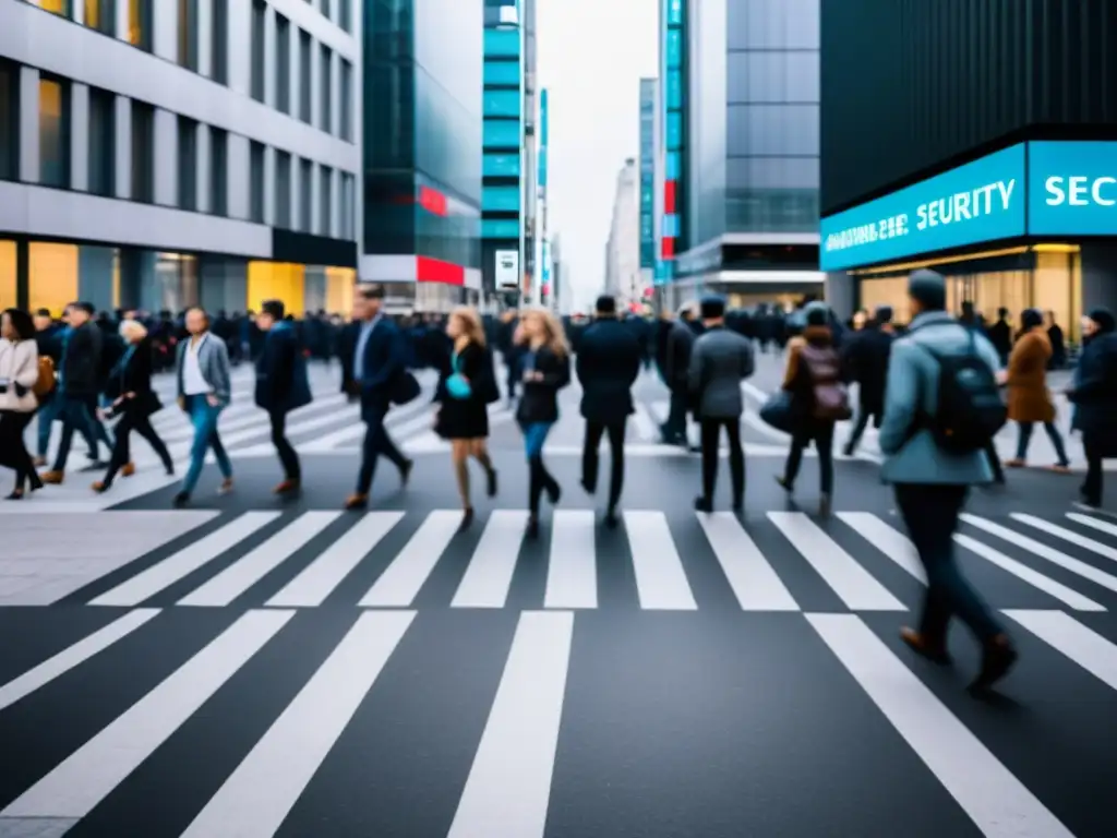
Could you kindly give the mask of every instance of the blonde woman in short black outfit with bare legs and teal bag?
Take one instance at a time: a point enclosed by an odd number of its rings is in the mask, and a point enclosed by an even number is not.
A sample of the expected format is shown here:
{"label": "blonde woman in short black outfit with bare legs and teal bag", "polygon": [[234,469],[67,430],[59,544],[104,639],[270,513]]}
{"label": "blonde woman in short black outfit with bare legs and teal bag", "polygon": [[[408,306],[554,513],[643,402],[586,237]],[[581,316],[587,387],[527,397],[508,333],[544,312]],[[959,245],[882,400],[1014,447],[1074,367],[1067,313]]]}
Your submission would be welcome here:
{"label": "blonde woman in short black outfit with bare legs and teal bag", "polygon": [[[487,494],[496,495],[496,469],[488,456],[488,403],[499,398],[491,380],[485,330],[472,308],[455,308],[446,323],[446,334],[454,341],[447,369],[438,383],[436,400],[441,403],[435,432],[450,441],[454,474],[461,495],[461,528],[474,523],[469,496],[469,458],[480,463],[487,478]],[[495,397],[495,398],[494,398]]]}

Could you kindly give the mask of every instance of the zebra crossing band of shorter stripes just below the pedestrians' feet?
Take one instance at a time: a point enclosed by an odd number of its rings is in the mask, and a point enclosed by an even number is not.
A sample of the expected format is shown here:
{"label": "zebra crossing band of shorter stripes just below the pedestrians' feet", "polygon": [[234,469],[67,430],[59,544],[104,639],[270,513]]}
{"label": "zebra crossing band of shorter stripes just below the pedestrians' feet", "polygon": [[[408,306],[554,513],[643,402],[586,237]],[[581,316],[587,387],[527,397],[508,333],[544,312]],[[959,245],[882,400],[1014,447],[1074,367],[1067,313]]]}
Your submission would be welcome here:
{"label": "zebra crossing band of shorter stripes just below the pedestrians' feet", "polygon": [[[926,585],[899,518],[872,512],[632,510],[609,531],[592,511],[557,510],[538,540],[524,510],[481,514],[465,532],[457,510],[99,515],[75,525],[118,555],[58,562],[55,578],[44,555],[68,554],[73,540],[36,530],[0,561],[0,606],[903,612]],[[994,607],[1117,607],[1109,520],[965,514],[956,542]]]}

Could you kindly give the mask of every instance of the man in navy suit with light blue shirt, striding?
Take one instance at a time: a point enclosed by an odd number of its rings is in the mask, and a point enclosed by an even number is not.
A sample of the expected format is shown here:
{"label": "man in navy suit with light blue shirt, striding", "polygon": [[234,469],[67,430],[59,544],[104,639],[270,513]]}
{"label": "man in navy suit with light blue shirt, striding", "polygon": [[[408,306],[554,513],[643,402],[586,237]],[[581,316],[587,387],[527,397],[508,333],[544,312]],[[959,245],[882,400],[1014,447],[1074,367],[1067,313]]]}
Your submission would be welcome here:
{"label": "man in navy suit with light blue shirt, striding", "polygon": [[365,423],[361,472],[356,492],[345,502],[347,510],[363,510],[369,505],[379,457],[388,457],[395,464],[404,486],[414,465],[400,453],[384,428],[392,397],[407,375],[408,353],[403,334],[381,311],[383,302],[382,286],[370,283],[357,288],[353,323],[341,341],[342,390],[351,399],[360,400],[361,420]]}

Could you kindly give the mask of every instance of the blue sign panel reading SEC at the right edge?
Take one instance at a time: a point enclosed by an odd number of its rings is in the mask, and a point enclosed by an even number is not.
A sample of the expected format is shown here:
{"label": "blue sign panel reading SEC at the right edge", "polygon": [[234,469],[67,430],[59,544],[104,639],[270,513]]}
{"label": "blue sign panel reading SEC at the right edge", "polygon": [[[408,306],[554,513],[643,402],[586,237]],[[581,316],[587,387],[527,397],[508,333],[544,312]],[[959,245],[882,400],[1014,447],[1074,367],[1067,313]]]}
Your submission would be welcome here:
{"label": "blue sign panel reading SEC at the right edge", "polygon": [[1117,143],[1029,143],[1028,185],[1031,235],[1117,235]]}

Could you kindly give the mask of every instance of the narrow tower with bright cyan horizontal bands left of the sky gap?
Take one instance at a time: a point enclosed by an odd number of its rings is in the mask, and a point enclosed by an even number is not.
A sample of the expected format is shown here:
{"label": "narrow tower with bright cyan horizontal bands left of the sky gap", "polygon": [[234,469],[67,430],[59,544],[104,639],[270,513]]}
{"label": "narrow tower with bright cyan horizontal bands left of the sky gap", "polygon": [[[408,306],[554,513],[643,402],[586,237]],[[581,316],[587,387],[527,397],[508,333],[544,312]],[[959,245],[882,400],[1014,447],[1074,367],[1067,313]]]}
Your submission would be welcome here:
{"label": "narrow tower with bright cyan horizontal bands left of the sky gap", "polygon": [[484,287],[514,303],[536,293],[535,0],[485,0],[484,37]]}

